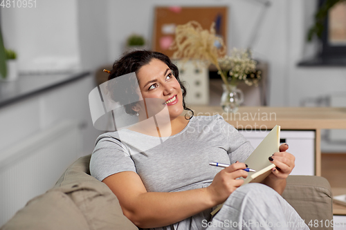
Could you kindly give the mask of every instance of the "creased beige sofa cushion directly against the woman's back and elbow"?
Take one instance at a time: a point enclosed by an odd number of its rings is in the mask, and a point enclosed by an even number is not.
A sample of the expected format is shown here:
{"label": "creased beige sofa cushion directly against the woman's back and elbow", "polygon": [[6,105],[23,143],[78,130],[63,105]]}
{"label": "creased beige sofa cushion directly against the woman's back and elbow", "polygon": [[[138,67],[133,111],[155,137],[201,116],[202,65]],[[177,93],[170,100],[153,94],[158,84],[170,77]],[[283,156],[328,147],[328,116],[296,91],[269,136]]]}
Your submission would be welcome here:
{"label": "creased beige sofa cushion directly against the woman's back and elbow", "polygon": [[82,211],[91,229],[138,229],[122,214],[116,195],[108,186],[89,175],[91,155],[80,157],[55,184]]}

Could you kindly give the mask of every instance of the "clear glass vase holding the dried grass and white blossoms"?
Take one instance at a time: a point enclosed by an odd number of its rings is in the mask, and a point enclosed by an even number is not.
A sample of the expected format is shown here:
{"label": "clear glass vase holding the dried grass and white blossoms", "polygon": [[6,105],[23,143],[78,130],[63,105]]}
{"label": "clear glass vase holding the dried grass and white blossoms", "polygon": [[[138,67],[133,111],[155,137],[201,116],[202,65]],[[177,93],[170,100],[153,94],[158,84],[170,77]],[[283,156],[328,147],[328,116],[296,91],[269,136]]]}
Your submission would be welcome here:
{"label": "clear glass vase holding the dried grass and white blossoms", "polygon": [[244,102],[244,93],[234,85],[226,87],[225,84],[222,84],[222,88],[224,92],[221,96],[221,107],[226,113],[236,113],[239,105]]}

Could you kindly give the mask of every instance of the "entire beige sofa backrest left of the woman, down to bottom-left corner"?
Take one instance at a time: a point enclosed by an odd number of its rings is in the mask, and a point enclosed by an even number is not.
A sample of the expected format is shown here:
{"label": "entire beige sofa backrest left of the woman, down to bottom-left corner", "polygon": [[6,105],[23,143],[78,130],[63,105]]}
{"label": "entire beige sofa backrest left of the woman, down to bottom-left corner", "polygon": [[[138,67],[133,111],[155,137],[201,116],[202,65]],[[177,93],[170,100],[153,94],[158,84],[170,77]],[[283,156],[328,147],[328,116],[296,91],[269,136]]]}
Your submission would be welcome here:
{"label": "entire beige sofa backrest left of the woman, down to bottom-left corner", "polygon": [[90,157],[71,164],[53,189],[28,202],[1,230],[138,230],[108,186],[88,175]]}

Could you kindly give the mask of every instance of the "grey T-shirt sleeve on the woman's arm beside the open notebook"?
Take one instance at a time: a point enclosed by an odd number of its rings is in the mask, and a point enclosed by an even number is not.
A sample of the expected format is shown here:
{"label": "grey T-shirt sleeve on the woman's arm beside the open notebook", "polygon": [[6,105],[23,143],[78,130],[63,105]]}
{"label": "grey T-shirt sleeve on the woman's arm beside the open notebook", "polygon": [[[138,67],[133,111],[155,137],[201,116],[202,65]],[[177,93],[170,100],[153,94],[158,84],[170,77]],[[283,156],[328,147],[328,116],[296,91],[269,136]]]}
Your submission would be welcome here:
{"label": "grey T-shirt sleeve on the woman's arm beside the open notebook", "polygon": [[235,127],[228,124],[228,122],[224,120],[224,117],[218,115],[217,119],[221,126],[221,133],[224,135],[224,140],[226,140],[228,144],[227,152],[230,157],[230,162],[245,162],[248,156],[253,153],[253,146],[246,140],[242,133],[239,133]]}

